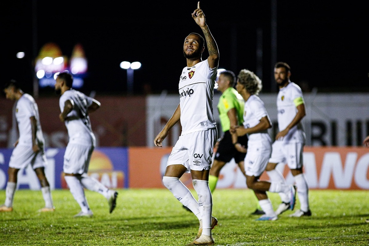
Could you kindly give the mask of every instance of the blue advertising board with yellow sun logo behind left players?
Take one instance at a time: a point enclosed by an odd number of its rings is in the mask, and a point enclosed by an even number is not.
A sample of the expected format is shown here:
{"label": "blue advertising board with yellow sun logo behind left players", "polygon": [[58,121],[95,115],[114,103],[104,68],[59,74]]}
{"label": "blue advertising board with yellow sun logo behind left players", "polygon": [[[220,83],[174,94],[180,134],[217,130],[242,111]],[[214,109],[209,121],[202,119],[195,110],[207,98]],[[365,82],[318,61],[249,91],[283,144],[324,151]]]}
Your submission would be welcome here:
{"label": "blue advertising board with yellow sun logo behind left players", "polygon": [[[0,189],[6,188],[8,164],[13,149],[0,148]],[[51,189],[68,188],[63,177],[63,157],[65,148],[46,148],[46,177]],[[128,149],[123,147],[95,148],[88,175],[96,178],[109,188],[128,188]],[[28,165],[18,172],[17,187],[39,190],[39,181],[32,167]]]}

